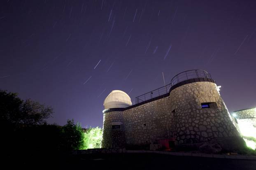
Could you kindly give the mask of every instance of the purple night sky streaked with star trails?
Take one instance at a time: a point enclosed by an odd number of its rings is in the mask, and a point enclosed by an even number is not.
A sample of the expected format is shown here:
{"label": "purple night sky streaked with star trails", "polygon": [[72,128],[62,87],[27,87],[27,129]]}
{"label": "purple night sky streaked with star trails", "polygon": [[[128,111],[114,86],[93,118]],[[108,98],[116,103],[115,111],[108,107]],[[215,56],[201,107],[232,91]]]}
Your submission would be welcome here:
{"label": "purple night sky streaked with star trails", "polygon": [[0,89],[102,127],[112,90],[135,97],[203,69],[230,112],[256,106],[256,1],[1,0]]}

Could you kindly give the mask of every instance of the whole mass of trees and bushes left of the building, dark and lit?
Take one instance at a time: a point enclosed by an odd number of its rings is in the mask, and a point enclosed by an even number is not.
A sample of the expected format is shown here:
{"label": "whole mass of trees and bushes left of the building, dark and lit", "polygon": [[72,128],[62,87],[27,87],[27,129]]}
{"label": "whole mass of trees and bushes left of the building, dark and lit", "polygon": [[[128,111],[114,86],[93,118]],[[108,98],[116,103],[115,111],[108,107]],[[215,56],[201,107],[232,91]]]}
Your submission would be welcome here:
{"label": "whole mass of trees and bushes left of the building, dark and lit", "polygon": [[63,127],[47,125],[45,119],[52,113],[51,107],[30,99],[23,101],[16,93],[0,90],[0,149],[9,153],[10,149],[55,152],[100,147],[100,128],[84,133],[74,120],[67,120]]}

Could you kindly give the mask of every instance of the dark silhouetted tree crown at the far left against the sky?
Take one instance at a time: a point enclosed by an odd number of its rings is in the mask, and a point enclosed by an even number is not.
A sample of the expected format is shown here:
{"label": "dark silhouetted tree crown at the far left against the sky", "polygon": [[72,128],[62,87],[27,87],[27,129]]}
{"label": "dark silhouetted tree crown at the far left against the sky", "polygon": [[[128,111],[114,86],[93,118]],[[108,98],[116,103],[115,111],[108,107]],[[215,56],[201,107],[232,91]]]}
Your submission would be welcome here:
{"label": "dark silhouetted tree crown at the far left against the sky", "polygon": [[0,120],[3,125],[31,126],[46,123],[53,109],[30,99],[25,102],[17,93],[0,90]]}

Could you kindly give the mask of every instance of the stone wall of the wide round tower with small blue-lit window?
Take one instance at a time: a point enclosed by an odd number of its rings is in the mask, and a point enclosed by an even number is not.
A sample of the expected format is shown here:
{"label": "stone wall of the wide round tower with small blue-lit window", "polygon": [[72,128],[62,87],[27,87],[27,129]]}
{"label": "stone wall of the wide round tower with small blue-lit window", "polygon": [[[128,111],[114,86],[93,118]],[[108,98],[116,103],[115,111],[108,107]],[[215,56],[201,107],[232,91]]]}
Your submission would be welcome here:
{"label": "stone wall of the wide round tower with small blue-lit window", "polygon": [[[197,143],[212,138],[239,136],[225,103],[212,82],[195,82],[170,93],[168,110],[175,112],[177,141]],[[211,103],[202,109],[201,103]]]}

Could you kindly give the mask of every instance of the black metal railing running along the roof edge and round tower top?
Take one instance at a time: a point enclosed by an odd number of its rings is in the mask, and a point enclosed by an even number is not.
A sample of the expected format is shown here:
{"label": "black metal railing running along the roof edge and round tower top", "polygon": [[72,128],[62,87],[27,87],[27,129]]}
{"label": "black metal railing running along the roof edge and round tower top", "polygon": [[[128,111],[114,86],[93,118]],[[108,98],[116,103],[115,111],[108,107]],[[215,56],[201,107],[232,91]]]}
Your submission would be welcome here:
{"label": "black metal railing running along the roof edge and round tower top", "polygon": [[158,96],[170,93],[171,87],[174,86],[175,84],[178,84],[179,82],[183,82],[188,79],[195,79],[195,78],[212,79],[211,75],[207,73],[205,70],[187,70],[175,75],[172,78],[170,84],[167,84],[166,86],[157,88],[153,91],[150,91],[148,93],[135,97],[136,104],[152,99],[154,97],[158,97]]}

